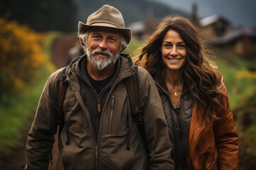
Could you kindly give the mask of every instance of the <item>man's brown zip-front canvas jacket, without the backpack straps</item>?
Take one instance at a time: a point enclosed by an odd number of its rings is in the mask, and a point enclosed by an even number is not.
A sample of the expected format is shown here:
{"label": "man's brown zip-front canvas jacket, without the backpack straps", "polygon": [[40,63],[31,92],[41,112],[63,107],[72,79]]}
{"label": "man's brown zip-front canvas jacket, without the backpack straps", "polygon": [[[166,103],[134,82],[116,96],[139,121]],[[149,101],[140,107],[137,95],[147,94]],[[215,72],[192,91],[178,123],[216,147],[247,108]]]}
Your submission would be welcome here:
{"label": "man's brown zip-front canvas jacket, without the backpack straps", "polygon": [[[87,106],[82,102],[75,64],[67,69],[69,86],[64,101],[65,125],[59,137],[56,169],[173,169],[171,142],[153,79],[139,67],[140,106],[144,113],[146,153],[142,137],[128,112],[123,79],[134,73],[130,57],[120,57],[120,70],[102,108],[100,132],[95,140]],[[55,101],[62,69],[53,73],[43,89],[26,144],[27,169],[48,169],[56,123]],[[69,140],[68,144],[67,142]],[[130,146],[130,149],[127,149]]]}

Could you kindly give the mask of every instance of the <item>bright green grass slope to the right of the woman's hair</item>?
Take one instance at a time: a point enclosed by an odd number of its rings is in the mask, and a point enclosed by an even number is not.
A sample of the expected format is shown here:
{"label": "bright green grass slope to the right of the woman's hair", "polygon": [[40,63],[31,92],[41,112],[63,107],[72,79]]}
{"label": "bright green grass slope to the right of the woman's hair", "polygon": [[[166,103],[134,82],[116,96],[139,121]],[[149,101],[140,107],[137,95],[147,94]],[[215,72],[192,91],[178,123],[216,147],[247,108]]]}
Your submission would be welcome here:
{"label": "bright green grass slope to the right of the woman's hair", "polygon": [[256,79],[245,75],[240,76],[241,73],[247,71],[250,62],[231,52],[220,49],[215,49],[214,52],[215,62],[220,73],[223,74],[223,81],[230,96],[230,106],[235,109],[241,105],[243,98],[255,93]]}

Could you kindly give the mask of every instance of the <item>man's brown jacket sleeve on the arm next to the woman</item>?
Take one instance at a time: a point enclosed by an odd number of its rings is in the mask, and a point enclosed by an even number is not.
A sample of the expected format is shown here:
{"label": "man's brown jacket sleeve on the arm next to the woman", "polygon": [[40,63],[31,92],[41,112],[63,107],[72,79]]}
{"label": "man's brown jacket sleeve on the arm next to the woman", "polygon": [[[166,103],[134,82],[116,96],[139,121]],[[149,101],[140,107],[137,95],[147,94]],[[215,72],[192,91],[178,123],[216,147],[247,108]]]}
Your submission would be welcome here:
{"label": "man's brown jacket sleeve on the arm next to the woman", "polygon": [[144,114],[146,143],[149,149],[149,169],[174,169],[163,106],[154,80],[139,67],[139,96]]}

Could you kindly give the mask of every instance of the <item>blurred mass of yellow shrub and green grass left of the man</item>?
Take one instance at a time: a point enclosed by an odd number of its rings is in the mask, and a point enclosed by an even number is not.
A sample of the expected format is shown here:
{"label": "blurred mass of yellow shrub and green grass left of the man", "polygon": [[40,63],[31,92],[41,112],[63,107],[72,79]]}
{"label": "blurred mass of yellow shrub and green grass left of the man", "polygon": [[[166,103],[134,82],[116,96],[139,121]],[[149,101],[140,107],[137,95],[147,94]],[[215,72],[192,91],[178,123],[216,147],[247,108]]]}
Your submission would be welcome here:
{"label": "blurred mass of yellow shrub and green grass left of the man", "polygon": [[[20,130],[35,111],[42,84],[55,67],[46,51],[48,34],[0,18],[0,152],[19,144]],[[48,74],[47,74],[48,73]]]}

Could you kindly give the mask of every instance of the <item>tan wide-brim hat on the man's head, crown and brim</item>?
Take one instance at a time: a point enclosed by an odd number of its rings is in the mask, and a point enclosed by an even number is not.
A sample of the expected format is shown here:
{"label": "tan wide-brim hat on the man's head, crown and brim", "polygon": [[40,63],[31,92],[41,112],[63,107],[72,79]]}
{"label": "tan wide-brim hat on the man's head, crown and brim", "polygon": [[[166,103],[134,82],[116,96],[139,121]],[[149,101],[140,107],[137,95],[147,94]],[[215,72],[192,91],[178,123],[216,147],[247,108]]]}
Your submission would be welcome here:
{"label": "tan wide-brim hat on the man's head, crown and brim", "polygon": [[120,13],[117,8],[110,5],[104,5],[98,11],[92,13],[90,16],[88,16],[86,23],[79,21],[78,33],[85,33],[87,30],[89,30],[89,28],[92,27],[116,28],[124,35],[127,44],[129,44],[132,39],[132,29],[125,28],[122,13]]}

